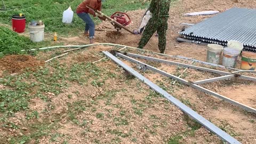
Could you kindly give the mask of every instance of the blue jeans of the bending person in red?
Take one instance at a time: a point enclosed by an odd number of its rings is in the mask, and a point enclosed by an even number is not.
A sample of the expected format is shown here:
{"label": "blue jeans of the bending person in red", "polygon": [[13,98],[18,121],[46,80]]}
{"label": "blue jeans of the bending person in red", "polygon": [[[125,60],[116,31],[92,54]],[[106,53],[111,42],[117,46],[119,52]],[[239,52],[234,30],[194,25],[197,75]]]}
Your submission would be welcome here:
{"label": "blue jeans of the bending person in red", "polygon": [[94,38],[94,30],[95,30],[95,24],[93,20],[91,19],[90,15],[88,13],[77,13],[78,17],[81,18],[85,22],[85,31],[89,30],[89,38]]}

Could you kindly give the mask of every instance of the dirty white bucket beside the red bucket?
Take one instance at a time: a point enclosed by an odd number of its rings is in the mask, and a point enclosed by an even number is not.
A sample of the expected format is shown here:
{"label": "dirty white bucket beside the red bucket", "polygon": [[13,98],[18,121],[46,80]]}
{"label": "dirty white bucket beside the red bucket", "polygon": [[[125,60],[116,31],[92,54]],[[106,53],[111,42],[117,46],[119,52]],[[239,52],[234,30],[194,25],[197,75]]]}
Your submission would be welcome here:
{"label": "dirty white bucket beside the red bucket", "polygon": [[32,42],[44,41],[44,25],[42,26],[28,26],[30,40]]}

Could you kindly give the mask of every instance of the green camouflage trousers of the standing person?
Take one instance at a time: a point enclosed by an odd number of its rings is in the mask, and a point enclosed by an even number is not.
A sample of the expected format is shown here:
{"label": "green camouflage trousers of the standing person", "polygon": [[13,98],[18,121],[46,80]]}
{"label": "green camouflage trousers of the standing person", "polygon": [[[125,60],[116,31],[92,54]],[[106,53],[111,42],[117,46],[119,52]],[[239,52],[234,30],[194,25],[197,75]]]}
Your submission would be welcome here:
{"label": "green camouflage trousers of the standing person", "polygon": [[149,39],[154,35],[157,31],[158,33],[158,49],[161,53],[164,53],[166,47],[166,31],[168,29],[167,20],[159,22],[158,20],[154,20],[151,18],[144,30],[142,37],[139,42],[139,49],[143,49],[143,47],[148,43]]}

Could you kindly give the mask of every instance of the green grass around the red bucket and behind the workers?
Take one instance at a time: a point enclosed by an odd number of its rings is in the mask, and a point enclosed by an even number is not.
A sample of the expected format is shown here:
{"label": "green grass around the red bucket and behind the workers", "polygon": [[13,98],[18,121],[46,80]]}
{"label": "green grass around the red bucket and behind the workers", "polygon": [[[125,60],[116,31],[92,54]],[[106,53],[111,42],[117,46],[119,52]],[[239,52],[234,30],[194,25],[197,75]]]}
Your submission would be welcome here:
{"label": "green grass around the red bucket and behind the workers", "polygon": [[[27,25],[31,20],[42,20],[45,23],[45,33],[53,34],[57,32],[59,36],[76,36],[78,31],[84,29],[84,22],[76,15],[76,7],[81,0],[25,0],[5,1],[7,10],[0,13],[0,24],[7,24],[11,26],[11,17],[13,14],[23,13],[26,15]],[[137,1],[123,1],[123,0],[106,0],[102,2],[102,12],[111,15],[116,11],[130,11],[136,9],[144,9],[146,5],[141,5]],[[69,5],[74,11],[74,19],[72,25],[64,25],[62,23],[62,12],[65,11]],[[99,23],[98,18],[94,18],[95,23]],[[41,43],[32,43],[28,37],[18,36],[12,30],[0,25],[0,52],[2,54],[20,54],[20,50],[34,49],[44,46],[51,46],[54,43],[49,41]]]}

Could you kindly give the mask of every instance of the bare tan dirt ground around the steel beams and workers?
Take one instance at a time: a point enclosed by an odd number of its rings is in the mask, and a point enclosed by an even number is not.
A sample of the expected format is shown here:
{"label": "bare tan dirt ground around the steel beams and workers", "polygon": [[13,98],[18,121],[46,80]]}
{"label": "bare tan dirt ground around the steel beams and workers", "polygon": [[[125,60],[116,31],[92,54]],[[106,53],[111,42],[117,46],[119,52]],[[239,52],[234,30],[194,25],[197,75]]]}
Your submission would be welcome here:
{"label": "bare tan dirt ground around the steel beams and workers", "polygon": [[[197,23],[210,16],[184,17],[184,13],[217,10],[223,12],[231,7],[254,8],[254,1],[219,1],[219,0],[202,0],[191,1],[184,0],[172,5],[170,10],[169,30],[167,32],[166,54],[182,55],[189,58],[195,58],[205,61],[206,46],[188,43],[178,43],[176,38],[182,26],[180,23]],[[132,18],[129,29],[138,28],[141,17],[145,10],[127,12]],[[97,31],[97,42],[116,43],[137,47],[140,35],[132,35],[121,30],[121,33],[113,32],[110,23],[102,22],[97,29],[107,29],[107,31]],[[112,30],[112,31],[111,31]],[[82,35],[82,32],[81,32]],[[83,36],[62,38],[61,42],[66,44],[88,44],[89,39]],[[152,37],[145,47],[146,50],[158,52],[157,37]],[[104,56],[101,51],[113,50],[112,46],[93,46],[89,49],[78,52],[70,52],[66,57],[60,58],[59,62],[67,66],[74,63],[94,62]],[[129,52],[139,53],[129,50]],[[47,60],[54,52],[46,52],[39,60]],[[166,58],[151,53],[140,53],[151,57],[162,58],[177,62],[190,63],[175,58]],[[138,59],[142,62],[153,65],[170,74],[179,76],[184,68],[177,66],[165,65],[163,63],[150,62]],[[123,60],[127,65],[135,70],[137,66],[134,63]],[[2,62],[1,62],[2,63]],[[37,110],[41,118],[39,122],[49,121],[50,125],[58,124],[51,131],[51,135],[40,137],[38,141],[31,140],[30,143],[62,143],[67,139],[69,143],[222,143],[222,141],[204,127],[197,127],[194,130],[194,124],[187,120],[186,115],[180,109],[167,102],[164,98],[152,93],[148,86],[135,78],[129,78],[125,75],[123,69],[119,68],[113,61],[104,60],[95,64],[97,67],[105,70],[101,76],[105,77],[107,73],[115,73],[117,77],[106,79],[105,84],[101,87],[92,85],[79,85],[70,83],[70,87],[63,90],[59,95],[51,92],[45,93],[50,102],[43,101],[39,98],[30,100],[30,109]],[[198,63],[194,63],[197,66]],[[50,65],[46,65],[49,67]],[[208,67],[209,66],[204,66]],[[239,64],[237,65],[239,68]],[[223,70],[223,69],[222,69]],[[228,70],[225,70],[228,71]],[[18,71],[17,71],[18,72]],[[247,113],[241,108],[231,105],[211,95],[200,92],[192,87],[182,85],[177,82],[173,85],[173,80],[165,76],[154,73],[153,71],[140,71],[145,77],[166,89],[175,98],[185,103],[187,106],[197,111],[213,124],[217,125],[223,131],[242,143],[256,143],[256,116]],[[85,75],[89,75],[86,74]],[[256,77],[253,74],[245,74]],[[205,78],[217,77],[220,75],[188,69],[183,73],[182,78],[190,81],[198,81]],[[86,81],[93,81],[89,77]],[[226,97],[236,100],[256,108],[256,91],[255,82],[241,79],[230,79],[215,83],[203,84],[203,87],[214,92],[225,95]],[[115,95],[112,95],[115,93]],[[71,96],[70,96],[71,95]],[[71,98],[69,98],[71,97]],[[69,103],[82,101],[86,110],[79,107],[70,107]],[[110,104],[109,104],[110,103]],[[54,106],[49,113],[44,113],[44,109]],[[70,110],[80,110],[74,117],[76,122],[70,121]],[[96,116],[95,116],[96,115]],[[54,119],[58,119],[54,120]],[[85,122],[86,124],[83,124]],[[33,122],[26,122],[25,113],[19,112],[15,117],[10,118],[14,123],[20,123],[20,127],[27,127]],[[76,124],[78,123],[78,124]],[[7,137],[8,135],[17,135],[20,131],[0,130],[0,133]],[[23,134],[30,132],[23,132]],[[54,133],[62,135],[52,141]],[[54,137],[55,138],[55,137]],[[173,139],[178,138],[178,141]],[[170,141],[172,139],[173,141]],[[0,139],[1,140],[1,139]],[[1,142],[0,142],[1,143]]]}

